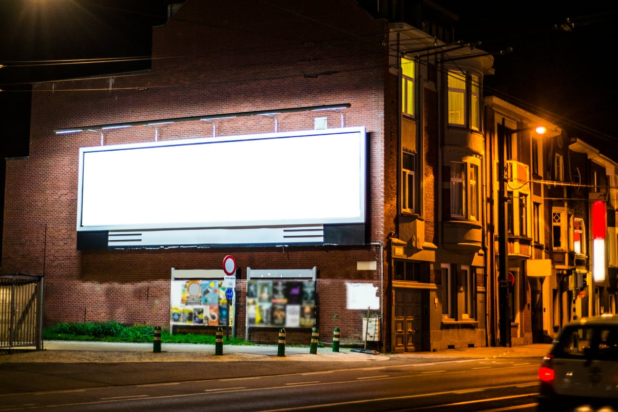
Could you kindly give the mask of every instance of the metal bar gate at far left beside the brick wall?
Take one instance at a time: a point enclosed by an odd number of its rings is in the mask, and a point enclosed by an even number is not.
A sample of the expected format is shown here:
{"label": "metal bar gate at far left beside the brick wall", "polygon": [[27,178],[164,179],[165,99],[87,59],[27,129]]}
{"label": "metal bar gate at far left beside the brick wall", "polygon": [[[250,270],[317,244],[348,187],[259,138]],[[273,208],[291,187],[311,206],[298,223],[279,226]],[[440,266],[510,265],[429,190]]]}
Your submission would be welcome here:
{"label": "metal bar gate at far left beside the brick wall", "polygon": [[43,348],[43,276],[0,274],[0,349]]}

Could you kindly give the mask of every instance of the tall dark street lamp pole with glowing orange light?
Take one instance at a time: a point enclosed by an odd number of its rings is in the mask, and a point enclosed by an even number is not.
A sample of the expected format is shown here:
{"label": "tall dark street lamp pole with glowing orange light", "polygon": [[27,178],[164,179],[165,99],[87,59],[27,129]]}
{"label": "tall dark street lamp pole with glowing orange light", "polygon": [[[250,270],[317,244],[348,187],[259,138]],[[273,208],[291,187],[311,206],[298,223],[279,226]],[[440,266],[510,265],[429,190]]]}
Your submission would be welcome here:
{"label": "tall dark street lamp pole with glowing orange light", "polygon": [[[509,134],[517,134],[521,131],[527,131],[533,129],[532,127],[509,130]],[[546,129],[543,126],[534,128],[536,133],[545,134]],[[498,225],[500,231],[498,233],[498,255],[499,255],[499,267],[498,267],[498,316],[500,326],[500,345],[510,347],[510,307],[509,307],[509,273],[508,273],[508,260],[509,250],[507,245],[507,170],[506,170],[506,155],[505,155],[505,141],[506,141],[506,126],[504,124],[504,117],[502,118],[502,125],[497,133],[497,150],[498,150],[498,178],[500,183],[498,185]]]}

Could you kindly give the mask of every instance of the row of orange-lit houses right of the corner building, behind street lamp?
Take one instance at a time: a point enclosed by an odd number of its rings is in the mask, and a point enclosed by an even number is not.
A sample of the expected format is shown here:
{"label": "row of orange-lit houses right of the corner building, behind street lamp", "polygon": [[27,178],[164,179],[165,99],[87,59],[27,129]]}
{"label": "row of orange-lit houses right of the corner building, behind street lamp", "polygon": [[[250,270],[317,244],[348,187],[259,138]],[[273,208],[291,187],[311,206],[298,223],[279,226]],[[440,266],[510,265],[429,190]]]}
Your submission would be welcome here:
{"label": "row of orange-lit houses right of the corner building, behind street lamp", "polygon": [[[486,152],[493,153],[486,157],[485,180],[493,344],[549,343],[569,321],[616,313],[617,163],[548,119],[494,96],[485,98],[485,122]],[[538,134],[536,126],[546,130]],[[504,172],[496,162],[501,133]],[[506,176],[503,222],[497,218],[501,176]],[[507,242],[507,313],[500,310],[501,230]],[[501,336],[505,318],[510,336]]]}

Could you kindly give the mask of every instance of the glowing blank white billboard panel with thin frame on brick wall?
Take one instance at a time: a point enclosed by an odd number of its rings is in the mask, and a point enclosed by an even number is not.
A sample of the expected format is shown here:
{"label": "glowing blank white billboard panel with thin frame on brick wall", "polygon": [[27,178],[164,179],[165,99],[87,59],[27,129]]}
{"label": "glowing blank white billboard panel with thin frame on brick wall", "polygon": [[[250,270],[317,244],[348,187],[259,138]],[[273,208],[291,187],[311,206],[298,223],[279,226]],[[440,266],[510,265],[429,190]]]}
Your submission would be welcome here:
{"label": "glowing blank white billboard panel with thin frame on brick wall", "polygon": [[77,230],[365,222],[364,128],[80,149]]}

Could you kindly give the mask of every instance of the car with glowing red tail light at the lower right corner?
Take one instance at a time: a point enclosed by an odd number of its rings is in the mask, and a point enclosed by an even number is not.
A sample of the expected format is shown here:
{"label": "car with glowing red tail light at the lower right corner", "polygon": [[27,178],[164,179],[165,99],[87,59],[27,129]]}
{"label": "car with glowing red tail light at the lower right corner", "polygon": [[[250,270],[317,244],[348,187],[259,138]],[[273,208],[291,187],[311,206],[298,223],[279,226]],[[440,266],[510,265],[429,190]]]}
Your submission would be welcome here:
{"label": "car with glowing red tail light at the lower right corner", "polygon": [[618,410],[618,315],[564,326],[538,377],[540,411]]}

